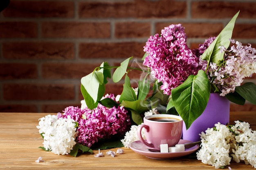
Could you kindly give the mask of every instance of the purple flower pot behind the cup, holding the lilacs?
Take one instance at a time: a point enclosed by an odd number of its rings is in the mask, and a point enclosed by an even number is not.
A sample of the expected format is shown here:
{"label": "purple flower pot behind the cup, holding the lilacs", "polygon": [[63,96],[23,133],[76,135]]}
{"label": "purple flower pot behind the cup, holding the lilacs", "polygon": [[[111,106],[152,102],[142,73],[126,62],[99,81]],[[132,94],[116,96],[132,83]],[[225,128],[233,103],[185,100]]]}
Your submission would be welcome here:
{"label": "purple flower pot behind the cup, holding the lilacs", "polygon": [[202,113],[186,130],[183,123],[182,138],[189,141],[200,141],[201,132],[205,132],[207,128],[212,128],[214,124],[229,123],[229,105],[230,102],[226,97],[222,97],[219,93],[211,93],[209,102]]}

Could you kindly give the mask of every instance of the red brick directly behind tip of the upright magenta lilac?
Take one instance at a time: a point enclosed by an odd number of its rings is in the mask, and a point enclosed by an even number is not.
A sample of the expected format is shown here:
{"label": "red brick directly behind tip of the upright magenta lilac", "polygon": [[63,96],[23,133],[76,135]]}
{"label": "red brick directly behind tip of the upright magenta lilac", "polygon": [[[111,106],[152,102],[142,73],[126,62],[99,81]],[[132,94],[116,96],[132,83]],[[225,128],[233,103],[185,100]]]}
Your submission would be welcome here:
{"label": "red brick directly behind tip of the upright magenta lilac", "polygon": [[[179,23],[156,23],[157,33],[161,33],[164,27]],[[223,29],[222,23],[180,23],[185,28],[187,38],[209,38],[217,36]]]}

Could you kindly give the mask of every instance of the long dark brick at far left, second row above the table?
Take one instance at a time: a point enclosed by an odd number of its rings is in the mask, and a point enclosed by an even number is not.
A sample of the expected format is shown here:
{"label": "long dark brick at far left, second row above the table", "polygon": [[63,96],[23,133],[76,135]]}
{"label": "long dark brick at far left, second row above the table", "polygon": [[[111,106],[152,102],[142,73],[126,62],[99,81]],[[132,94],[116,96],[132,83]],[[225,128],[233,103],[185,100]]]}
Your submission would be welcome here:
{"label": "long dark brick at far left, second row above the table", "polygon": [[5,100],[71,100],[74,99],[72,84],[4,84]]}

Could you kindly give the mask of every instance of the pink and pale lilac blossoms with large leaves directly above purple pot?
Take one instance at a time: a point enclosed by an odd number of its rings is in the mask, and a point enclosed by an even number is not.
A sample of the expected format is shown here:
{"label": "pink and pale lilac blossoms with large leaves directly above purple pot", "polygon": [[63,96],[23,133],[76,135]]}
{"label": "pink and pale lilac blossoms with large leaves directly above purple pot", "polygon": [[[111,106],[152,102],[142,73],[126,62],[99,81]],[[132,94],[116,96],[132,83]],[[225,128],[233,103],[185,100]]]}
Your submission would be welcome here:
{"label": "pink and pale lilac blossoms with large leaves directly above purple pot", "polygon": [[165,27],[144,46],[143,64],[162,82],[163,93],[171,95],[167,110],[175,108],[187,129],[204,111],[210,93],[237,104],[243,105],[245,99],[256,104],[256,85],[242,85],[245,77],[256,73],[256,49],[231,40],[237,16],[198,49],[189,49],[181,24]]}

